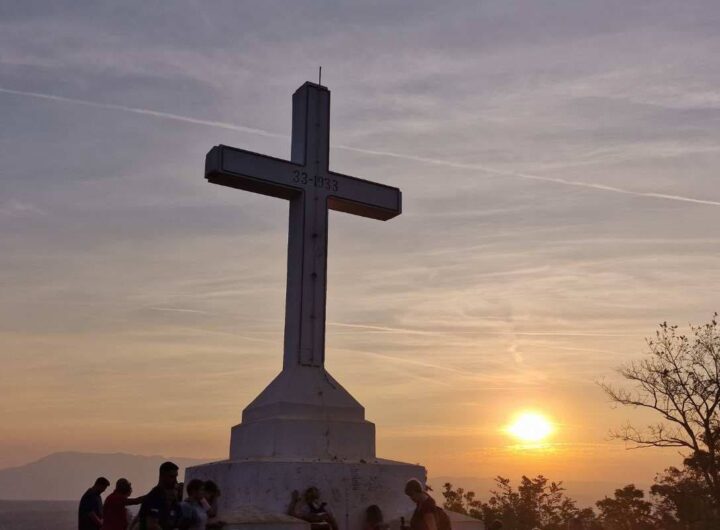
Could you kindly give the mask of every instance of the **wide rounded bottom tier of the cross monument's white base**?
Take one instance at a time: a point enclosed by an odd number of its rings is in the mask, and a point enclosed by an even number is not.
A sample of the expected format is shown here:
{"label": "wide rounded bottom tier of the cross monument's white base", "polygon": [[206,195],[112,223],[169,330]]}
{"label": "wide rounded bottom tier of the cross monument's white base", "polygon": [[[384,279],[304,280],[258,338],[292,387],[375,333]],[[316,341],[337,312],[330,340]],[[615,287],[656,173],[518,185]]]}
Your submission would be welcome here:
{"label": "wide rounded bottom tier of the cross monument's white base", "polygon": [[[302,492],[309,486],[317,486],[340,530],[361,530],[365,509],[371,504],[380,506],[391,529],[398,530],[400,517],[413,509],[412,501],[404,494],[405,483],[410,478],[424,483],[426,472],[419,465],[375,458],[367,461],[268,458],[223,460],[190,467],[185,480],[193,478],[217,482],[222,491],[220,518],[224,518],[224,514],[232,515],[233,525],[238,529],[267,530],[272,526],[274,530],[274,525],[292,525],[292,521],[274,517],[287,513],[293,490]],[[272,517],[243,519],[242,513],[253,510],[272,514]],[[282,527],[290,529],[290,526]]]}

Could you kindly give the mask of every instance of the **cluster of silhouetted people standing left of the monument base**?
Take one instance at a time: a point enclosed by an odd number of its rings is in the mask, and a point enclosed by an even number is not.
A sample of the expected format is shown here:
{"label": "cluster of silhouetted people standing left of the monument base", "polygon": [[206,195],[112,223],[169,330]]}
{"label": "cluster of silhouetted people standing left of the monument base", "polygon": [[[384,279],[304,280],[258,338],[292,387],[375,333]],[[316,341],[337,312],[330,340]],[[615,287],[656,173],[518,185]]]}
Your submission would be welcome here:
{"label": "cluster of silhouetted people standing left of the monument base", "polygon": [[[105,498],[110,486],[105,477],[98,478],[80,499],[78,530],[210,530],[220,528],[217,517],[220,488],[211,480],[193,479],[179,483],[178,466],[165,462],[160,466],[158,483],[147,495],[131,497],[132,484],[125,478]],[[183,498],[183,493],[185,497]],[[133,517],[129,506],[140,505]]]}

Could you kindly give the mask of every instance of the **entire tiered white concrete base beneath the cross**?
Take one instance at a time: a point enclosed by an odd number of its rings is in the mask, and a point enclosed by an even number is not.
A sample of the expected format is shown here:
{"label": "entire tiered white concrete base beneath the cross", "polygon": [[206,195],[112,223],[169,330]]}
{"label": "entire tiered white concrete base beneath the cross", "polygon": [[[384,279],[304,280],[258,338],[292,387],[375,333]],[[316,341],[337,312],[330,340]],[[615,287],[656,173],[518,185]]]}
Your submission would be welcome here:
{"label": "entire tiered white concrete base beneath the cross", "polygon": [[[375,426],[324,368],[286,367],[242,417],[232,430],[230,459],[185,475],[218,483],[221,515],[248,513],[248,507],[284,514],[293,490],[317,486],[340,530],[360,530],[371,504],[399,529],[400,516],[413,508],[405,483],[426,479],[420,465],[375,458]],[[267,521],[235,520],[246,530],[267,529]]]}

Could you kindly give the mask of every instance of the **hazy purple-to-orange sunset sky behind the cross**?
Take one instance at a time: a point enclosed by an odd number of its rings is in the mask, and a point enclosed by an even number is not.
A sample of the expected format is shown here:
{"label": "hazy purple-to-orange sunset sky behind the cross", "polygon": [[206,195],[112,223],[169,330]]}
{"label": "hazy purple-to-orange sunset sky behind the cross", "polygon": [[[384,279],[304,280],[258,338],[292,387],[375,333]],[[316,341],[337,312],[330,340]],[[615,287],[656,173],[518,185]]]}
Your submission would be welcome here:
{"label": "hazy purple-to-orange sunset sky behind the cross", "polygon": [[[720,284],[711,1],[0,0],[0,467],[60,450],[223,458],[282,362],[287,203],[208,184],[289,157],[332,92],[328,370],[381,456],[432,476],[649,483],[674,452],[599,381]],[[9,399],[8,399],[9,398]],[[555,425],[527,448],[522,410]]]}

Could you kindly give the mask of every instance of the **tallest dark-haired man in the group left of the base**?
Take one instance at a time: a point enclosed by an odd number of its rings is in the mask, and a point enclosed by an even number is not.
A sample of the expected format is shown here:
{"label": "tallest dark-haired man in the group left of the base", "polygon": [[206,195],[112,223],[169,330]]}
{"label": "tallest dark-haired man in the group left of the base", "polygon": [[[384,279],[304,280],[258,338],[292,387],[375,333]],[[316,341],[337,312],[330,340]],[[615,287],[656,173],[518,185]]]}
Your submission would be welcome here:
{"label": "tallest dark-haired man in the group left of the base", "polygon": [[158,484],[140,505],[138,513],[140,530],[173,530],[180,519],[177,500],[178,466],[165,462],[160,466]]}

